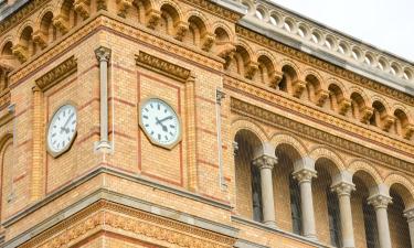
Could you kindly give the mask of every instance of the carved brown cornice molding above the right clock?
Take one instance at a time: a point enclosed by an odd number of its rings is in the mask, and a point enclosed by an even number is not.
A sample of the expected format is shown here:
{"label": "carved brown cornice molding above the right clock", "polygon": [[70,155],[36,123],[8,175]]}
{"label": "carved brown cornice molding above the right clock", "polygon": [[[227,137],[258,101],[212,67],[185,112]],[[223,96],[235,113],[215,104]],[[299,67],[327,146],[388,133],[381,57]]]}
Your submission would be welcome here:
{"label": "carved brown cornice molding above the right clock", "polygon": [[179,80],[185,82],[190,77],[190,69],[172,64],[168,61],[156,57],[142,51],[139,51],[139,54],[136,55],[135,60],[137,65],[156,71]]}

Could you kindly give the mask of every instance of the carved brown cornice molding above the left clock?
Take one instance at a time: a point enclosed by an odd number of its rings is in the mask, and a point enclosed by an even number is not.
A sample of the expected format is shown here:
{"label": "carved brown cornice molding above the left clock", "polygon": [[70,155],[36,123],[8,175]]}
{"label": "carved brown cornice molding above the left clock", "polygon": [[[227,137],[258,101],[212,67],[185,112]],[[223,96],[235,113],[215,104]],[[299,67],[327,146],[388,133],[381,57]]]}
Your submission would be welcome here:
{"label": "carved brown cornice molding above the left clock", "polygon": [[71,56],[66,61],[59,64],[53,69],[45,73],[43,76],[35,80],[36,85],[43,91],[59,82],[66,78],[68,75],[73,74],[77,69],[77,62],[75,56]]}

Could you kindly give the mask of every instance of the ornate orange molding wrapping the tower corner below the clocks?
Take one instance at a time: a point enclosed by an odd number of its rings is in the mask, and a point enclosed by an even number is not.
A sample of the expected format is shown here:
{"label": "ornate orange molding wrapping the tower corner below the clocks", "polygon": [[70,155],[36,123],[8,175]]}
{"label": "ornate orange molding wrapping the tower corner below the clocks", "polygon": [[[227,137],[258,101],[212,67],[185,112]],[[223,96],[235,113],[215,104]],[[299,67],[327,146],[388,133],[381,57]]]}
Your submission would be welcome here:
{"label": "ornate orange molding wrapping the tower corner below the clocks", "polygon": [[104,229],[123,235],[128,231],[132,235],[142,235],[157,241],[181,247],[230,248],[236,241],[235,237],[100,200],[20,247],[29,248],[39,245],[42,247],[50,247],[51,245],[53,247],[66,247],[68,244],[75,245],[76,240],[86,239],[92,234]]}

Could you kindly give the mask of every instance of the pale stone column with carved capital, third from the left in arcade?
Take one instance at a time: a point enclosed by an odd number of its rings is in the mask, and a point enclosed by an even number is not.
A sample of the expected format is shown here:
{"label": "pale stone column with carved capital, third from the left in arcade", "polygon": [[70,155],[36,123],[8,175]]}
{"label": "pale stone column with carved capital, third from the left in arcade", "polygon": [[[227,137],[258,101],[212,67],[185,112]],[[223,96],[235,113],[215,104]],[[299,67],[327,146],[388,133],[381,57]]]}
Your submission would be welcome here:
{"label": "pale stone column with carved capital, third from the left in arcade", "polygon": [[341,172],[333,179],[331,190],[337,193],[339,200],[342,248],[354,248],[351,192],[355,190],[355,185],[352,183],[352,175],[348,172]]}

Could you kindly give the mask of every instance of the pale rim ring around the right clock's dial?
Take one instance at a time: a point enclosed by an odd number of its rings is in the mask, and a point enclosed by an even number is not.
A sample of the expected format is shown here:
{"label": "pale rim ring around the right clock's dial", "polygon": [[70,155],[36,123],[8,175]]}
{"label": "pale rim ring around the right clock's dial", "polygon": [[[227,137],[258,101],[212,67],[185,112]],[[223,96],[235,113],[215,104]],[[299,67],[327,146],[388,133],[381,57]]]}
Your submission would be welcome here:
{"label": "pale rim ring around the right clock's dial", "polygon": [[[178,123],[180,125],[180,128],[179,128],[179,133],[178,133],[178,137],[177,137],[177,140],[170,144],[163,144],[163,143],[160,143],[158,142],[157,140],[152,139],[151,134],[149,134],[147,132],[147,130],[145,129],[144,127],[144,123],[142,123],[142,120],[141,120],[141,107],[144,105],[146,105],[149,100],[152,100],[152,99],[156,99],[156,100],[160,100],[162,103],[164,103],[166,105],[168,105],[172,111],[176,114],[177,116],[177,119],[178,119]],[[182,140],[182,121],[181,121],[181,116],[178,114],[177,109],[166,99],[162,99],[160,97],[157,97],[157,96],[149,96],[149,97],[146,97],[144,99],[141,99],[139,103],[138,103],[138,125],[139,127],[141,128],[142,132],[146,134],[146,137],[148,138],[148,140],[157,145],[157,147],[160,147],[160,148],[164,148],[167,150],[172,150],[179,142],[181,142]]]}

